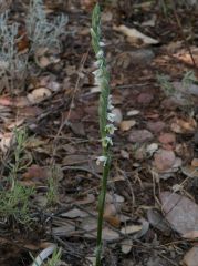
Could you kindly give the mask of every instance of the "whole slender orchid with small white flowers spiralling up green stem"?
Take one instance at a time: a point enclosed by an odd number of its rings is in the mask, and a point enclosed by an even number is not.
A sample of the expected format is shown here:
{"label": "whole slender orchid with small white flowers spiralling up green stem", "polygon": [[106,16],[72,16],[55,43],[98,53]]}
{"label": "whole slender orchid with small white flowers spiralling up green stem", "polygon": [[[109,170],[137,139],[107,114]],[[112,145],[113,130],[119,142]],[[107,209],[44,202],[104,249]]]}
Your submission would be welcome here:
{"label": "whole slender orchid with small white flowers spiralling up green stem", "polygon": [[102,254],[102,229],[103,229],[103,214],[107,188],[107,177],[111,166],[111,146],[113,145],[112,136],[116,127],[114,126],[115,114],[112,112],[112,95],[110,94],[110,75],[106,68],[106,60],[103,51],[104,42],[102,42],[101,33],[101,9],[96,3],[92,14],[92,47],[95,52],[96,70],[95,83],[101,89],[98,117],[100,117],[100,133],[102,140],[102,155],[97,157],[96,163],[103,163],[102,187],[98,196],[98,218],[97,218],[97,243],[96,243],[96,263],[95,266],[101,265]]}

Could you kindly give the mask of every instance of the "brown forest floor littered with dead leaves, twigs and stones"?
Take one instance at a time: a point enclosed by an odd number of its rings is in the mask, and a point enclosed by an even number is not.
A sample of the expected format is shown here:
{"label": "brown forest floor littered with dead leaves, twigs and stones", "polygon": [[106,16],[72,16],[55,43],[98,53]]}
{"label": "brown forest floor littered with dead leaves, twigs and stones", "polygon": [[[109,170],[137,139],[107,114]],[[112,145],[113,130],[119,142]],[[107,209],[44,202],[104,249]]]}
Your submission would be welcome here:
{"label": "brown forest floor littered with dead leaves, twigs and stones", "polygon": [[[27,2],[13,2],[9,14],[24,34],[19,52],[29,49]],[[198,265],[197,10],[163,2],[101,2],[117,127],[104,214],[105,266]],[[1,90],[1,190],[9,190],[15,126],[28,132],[28,166],[17,178],[35,190],[30,224],[0,219],[2,266],[31,265],[52,244],[62,247],[60,265],[93,265],[102,174],[95,164],[101,142],[93,6],[46,1],[49,19],[69,18],[61,51],[40,51],[40,68],[31,68],[20,88]],[[37,89],[44,94],[27,102]],[[55,196],[49,204],[51,176]]]}

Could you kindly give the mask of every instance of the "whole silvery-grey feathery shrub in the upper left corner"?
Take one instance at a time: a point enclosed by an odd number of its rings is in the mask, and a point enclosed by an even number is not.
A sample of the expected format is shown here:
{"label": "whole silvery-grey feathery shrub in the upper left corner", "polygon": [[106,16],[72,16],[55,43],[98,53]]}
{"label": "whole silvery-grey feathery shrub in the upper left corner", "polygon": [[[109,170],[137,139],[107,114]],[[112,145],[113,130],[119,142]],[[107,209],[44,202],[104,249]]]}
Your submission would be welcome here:
{"label": "whole silvery-grey feathery shrub in the upper left corner", "polygon": [[65,33],[66,22],[65,16],[49,21],[43,1],[30,0],[25,27],[31,45],[28,53],[20,54],[17,43],[23,37],[18,37],[19,24],[9,21],[8,11],[0,14],[0,93],[4,89],[14,92],[24,88],[30,54],[43,47],[60,49],[60,35]]}

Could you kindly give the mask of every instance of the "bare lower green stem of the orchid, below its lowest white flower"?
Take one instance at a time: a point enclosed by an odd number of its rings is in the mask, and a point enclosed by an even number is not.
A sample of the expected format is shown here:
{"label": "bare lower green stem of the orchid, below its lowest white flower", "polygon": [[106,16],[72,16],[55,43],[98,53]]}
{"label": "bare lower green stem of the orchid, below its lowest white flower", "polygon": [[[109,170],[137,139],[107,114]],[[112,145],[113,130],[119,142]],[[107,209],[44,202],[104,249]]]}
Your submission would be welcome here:
{"label": "bare lower green stem of the orchid, below its lowest white flower", "polygon": [[[107,152],[107,151],[106,151]],[[106,152],[104,152],[106,154]],[[107,178],[110,173],[110,158],[103,167],[102,188],[98,196],[98,216],[97,216],[97,243],[96,243],[96,262],[95,266],[101,266],[102,254],[102,232],[103,232],[103,214],[106,198]]]}

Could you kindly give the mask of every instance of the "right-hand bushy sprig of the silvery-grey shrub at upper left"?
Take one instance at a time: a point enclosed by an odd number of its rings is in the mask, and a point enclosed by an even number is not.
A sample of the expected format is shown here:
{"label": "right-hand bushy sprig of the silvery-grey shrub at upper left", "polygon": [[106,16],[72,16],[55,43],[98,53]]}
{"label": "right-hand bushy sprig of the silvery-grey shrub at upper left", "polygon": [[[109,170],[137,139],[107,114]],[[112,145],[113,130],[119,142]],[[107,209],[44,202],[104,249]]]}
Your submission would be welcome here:
{"label": "right-hand bushy sprig of the silvery-grey shrub at upper left", "polygon": [[67,17],[59,16],[49,21],[44,11],[42,0],[31,0],[29,13],[27,17],[27,32],[31,40],[31,51],[34,52],[38,48],[58,48],[61,42],[59,40],[61,34],[65,34],[65,25]]}

